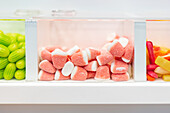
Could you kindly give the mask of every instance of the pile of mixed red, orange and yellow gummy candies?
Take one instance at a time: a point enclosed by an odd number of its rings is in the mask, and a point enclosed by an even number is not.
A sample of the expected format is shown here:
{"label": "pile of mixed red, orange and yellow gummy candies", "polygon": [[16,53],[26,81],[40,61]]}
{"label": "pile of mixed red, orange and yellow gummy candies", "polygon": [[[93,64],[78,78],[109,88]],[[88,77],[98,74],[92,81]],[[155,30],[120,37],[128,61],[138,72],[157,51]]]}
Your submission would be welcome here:
{"label": "pile of mixed red, orange and yellow gummy candies", "polygon": [[148,81],[154,81],[158,77],[170,81],[170,49],[153,46],[151,41],[147,41],[146,46]]}

